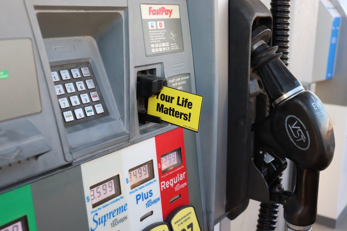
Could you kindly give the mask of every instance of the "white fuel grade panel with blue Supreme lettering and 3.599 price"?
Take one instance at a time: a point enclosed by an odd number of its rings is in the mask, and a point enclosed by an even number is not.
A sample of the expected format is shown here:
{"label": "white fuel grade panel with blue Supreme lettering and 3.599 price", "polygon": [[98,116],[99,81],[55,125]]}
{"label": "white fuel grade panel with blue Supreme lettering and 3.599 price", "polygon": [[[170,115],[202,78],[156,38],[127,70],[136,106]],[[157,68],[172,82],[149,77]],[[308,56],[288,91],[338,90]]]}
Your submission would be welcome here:
{"label": "white fuel grade panel with blue Supreme lettering and 3.599 price", "polygon": [[130,230],[121,151],[81,165],[90,231]]}

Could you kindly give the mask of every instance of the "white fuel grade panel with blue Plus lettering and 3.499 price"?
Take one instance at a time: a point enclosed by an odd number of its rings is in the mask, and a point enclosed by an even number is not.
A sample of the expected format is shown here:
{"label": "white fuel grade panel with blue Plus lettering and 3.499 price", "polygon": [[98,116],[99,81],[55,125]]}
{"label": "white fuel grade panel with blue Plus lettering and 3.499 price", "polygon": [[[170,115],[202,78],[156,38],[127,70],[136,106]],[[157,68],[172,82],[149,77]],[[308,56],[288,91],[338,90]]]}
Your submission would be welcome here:
{"label": "white fuel grade panel with blue Plus lettering and 3.499 price", "polygon": [[131,230],[143,230],[163,220],[155,138],[122,149],[122,159]]}

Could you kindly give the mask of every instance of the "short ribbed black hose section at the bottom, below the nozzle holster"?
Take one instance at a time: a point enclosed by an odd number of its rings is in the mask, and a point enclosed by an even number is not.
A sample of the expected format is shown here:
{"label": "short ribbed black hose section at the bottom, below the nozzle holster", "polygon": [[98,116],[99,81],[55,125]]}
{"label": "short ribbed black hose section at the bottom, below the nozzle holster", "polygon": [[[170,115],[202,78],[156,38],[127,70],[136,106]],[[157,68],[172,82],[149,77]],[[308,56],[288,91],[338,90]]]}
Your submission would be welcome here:
{"label": "short ribbed black hose section at the bottom, below the nozzle holster", "polygon": [[274,231],[276,229],[278,206],[279,204],[260,203],[256,231]]}

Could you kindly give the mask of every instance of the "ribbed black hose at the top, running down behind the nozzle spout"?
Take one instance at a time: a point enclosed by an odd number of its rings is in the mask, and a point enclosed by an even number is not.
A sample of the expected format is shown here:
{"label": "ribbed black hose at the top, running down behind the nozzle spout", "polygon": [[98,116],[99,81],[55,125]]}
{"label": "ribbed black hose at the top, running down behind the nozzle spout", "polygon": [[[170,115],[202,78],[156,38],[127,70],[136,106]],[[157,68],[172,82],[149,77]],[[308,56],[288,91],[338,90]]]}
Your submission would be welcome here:
{"label": "ribbed black hose at the top, running down behind the nozzle spout", "polygon": [[289,13],[290,0],[271,0],[272,46],[278,46],[277,53],[283,53],[281,60],[288,66],[289,59]]}

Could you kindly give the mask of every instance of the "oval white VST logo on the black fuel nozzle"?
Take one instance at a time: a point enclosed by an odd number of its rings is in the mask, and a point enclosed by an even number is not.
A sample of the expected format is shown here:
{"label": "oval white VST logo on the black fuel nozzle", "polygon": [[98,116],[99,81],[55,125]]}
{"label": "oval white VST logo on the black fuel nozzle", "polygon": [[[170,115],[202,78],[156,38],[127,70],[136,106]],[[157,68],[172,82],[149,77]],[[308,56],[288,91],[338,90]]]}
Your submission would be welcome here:
{"label": "oval white VST logo on the black fuel nozzle", "polygon": [[310,135],[308,135],[304,123],[298,117],[287,116],[286,130],[291,142],[299,149],[307,150],[310,147]]}

